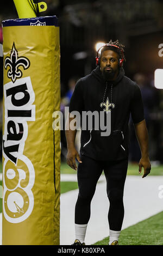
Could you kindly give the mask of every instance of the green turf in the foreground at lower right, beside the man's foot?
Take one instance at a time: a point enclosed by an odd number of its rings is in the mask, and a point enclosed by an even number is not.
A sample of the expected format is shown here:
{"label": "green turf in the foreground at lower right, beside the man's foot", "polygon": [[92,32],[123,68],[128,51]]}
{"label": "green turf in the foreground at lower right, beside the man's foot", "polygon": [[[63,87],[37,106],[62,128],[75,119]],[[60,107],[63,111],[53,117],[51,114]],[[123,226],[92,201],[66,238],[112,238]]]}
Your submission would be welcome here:
{"label": "green turf in the foreground at lower right, beside the man's foot", "polygon": [[[119,245],[163,245],[163,211],[121,231]],[[108,245],[109,237],[95,245]]]}

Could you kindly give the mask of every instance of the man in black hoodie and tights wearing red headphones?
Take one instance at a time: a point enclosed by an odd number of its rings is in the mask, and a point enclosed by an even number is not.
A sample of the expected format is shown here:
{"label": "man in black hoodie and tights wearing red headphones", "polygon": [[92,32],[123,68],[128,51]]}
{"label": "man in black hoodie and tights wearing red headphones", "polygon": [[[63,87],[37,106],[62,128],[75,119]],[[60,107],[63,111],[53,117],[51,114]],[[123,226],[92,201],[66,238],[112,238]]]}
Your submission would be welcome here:
{"label": "man in black hoodie and tights wearing red headphones", "polygon": [[[124,217],[123,190],[128,168],[129,116],[133,118],[135,132],[141,149],[139,173],[143,167],[147,176],[151,170],[148,155],[148,132],[143,114],[143,103],[139,86],[124,76],[122,68],[123,45],[118,40],[106,44],[101,56],[96,57],[97,68],[81,78],[74,89],[69,111],[99,114],[104,112],[104,123],[110,115],[110,133],[102,136],[102,130],[82,129],[80,155],[74,147],[76,130],[66,130],[67,164],[77,169],[79,194],[75,209],[76,240],[73,245],[85,245],[85,233],[90,219],[90,205],[99,177],[104,171],[106,191],[110,206],[109,245],[118,245],[118,237]],[[99,51],[99,50],[98,50]],[[69,115],[69,124],[74,119]],[[108,123],[106,123],[108,126]],[[69,127],[70,128],[70,127]]]}

